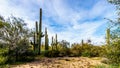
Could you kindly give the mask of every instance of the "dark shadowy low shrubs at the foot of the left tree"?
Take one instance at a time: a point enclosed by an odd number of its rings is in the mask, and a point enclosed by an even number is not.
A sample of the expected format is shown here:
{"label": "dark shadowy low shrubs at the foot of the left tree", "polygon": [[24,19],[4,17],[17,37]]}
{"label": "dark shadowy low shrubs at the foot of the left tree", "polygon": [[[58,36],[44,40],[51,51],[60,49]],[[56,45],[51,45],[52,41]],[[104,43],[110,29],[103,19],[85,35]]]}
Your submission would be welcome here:
{"label": "dark shadowy low shrubs at the foot of the left tree", "polygon": [[14,51],[10,51],[9,53],[7,63],[28,62],[35,59],[35,53],[32,50],[27,50],[24,53],[17,54]]}

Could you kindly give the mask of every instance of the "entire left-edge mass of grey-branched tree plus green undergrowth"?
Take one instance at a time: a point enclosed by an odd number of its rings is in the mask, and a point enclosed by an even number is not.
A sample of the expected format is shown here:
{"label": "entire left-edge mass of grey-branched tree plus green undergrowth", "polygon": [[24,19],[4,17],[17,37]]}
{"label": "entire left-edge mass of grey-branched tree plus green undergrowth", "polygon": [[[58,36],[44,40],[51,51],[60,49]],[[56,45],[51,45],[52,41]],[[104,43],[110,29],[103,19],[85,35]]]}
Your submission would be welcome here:
{"label": "entire left-edge mass of grey-branched tree plus green undergrowth", "polygon": [[1,64],[33,59],[34,54],[29,44],[30,31],[24,21],[13,16],[0,21]]}

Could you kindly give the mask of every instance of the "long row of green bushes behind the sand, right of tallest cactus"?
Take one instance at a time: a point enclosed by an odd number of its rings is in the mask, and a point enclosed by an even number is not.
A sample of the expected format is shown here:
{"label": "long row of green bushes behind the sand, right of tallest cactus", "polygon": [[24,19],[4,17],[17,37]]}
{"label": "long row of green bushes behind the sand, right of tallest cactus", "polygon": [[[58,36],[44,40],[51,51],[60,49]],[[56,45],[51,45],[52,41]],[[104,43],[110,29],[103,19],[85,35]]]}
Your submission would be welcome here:
{"label": "long row of green bushes behind the sand, right of tallest cactus", "polygon": [[88,43],[84,43],[83,45],[74,43],[70,48],[69,42],[65,40],[59,42],[57,48],[58,50],[46,51],[45,54],[48,57],[104,57],[106,54],[105,46],[94,46]]}

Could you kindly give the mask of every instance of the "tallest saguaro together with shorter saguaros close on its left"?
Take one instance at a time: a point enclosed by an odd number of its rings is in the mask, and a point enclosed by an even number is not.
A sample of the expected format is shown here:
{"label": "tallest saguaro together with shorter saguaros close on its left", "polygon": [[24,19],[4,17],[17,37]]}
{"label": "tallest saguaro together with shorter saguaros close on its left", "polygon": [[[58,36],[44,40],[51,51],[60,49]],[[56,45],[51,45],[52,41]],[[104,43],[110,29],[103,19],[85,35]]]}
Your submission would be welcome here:
{"label": "tallest saguaro together with shorter saguaros close on its left", "polygon": [[40,9],[40,20],[39,20],[39,26],[38,22],[36,21],[36,31],[34,33],[34,42],[31,42],[31,44],[34,47],[34,51],[37,52],[37,54],[40,55],[41,53],[41,38],[44,36],[42,33],[42,9]]}

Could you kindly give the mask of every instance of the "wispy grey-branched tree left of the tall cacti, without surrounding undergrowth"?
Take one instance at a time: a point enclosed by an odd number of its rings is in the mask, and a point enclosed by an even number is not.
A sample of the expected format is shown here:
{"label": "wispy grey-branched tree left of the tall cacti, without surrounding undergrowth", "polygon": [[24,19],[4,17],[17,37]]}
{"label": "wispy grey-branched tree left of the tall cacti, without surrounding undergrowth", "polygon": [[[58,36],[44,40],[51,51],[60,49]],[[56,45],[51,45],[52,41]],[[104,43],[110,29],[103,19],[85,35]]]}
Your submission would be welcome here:
{"label": "wispy grey-branched tree left of the tall cacti, without surrounding undergrowth", "polygon": [[24,20],[13,16],[3,23],[5,25],[3,24],[3,27],[0,28],[0,39],[8,47],[8,59],[17,61],[20,55],[29,51],[29,29],[26,27]]}

